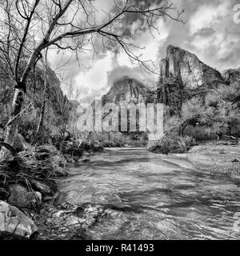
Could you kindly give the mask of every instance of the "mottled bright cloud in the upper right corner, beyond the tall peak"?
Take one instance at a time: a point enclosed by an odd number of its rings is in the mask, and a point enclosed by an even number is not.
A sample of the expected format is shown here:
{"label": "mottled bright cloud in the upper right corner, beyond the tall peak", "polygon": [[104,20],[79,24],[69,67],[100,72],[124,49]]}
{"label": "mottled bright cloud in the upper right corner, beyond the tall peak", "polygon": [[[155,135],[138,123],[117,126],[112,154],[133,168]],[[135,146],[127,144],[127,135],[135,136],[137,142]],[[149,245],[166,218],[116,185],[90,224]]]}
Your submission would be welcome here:
{"label": "mottled bright cloud in the upper right corner, beyond the tall peak", "polygon": [[240,30],[233,21],[234,2],[218,0],[199,6],[189,24],[190,47],[210,66],[239,66]]}

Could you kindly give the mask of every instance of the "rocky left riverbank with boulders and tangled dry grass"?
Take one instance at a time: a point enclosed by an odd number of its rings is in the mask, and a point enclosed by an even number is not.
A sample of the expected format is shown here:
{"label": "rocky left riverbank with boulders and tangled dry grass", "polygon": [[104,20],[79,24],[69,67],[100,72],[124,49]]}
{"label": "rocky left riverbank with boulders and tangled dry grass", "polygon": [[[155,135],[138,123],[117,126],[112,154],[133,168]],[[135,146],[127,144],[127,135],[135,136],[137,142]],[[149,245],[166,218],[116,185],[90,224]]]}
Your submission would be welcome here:
{"label": "rocky left riverbank with boulders and tangled dry grass", "polygon": [[[86,155],[99,150],[102,150],[99,143],[78,145],[77,142],[66,142],[63,154],[53,145],[28,146],[1,162],[0,239],[71,238],[75,234],[72,225],[74,223],[75,230],[78,209],[54,206],[58,198],[58,181],[68,175],[68,165],[79,159],[87,161]],[[86,206],[87,216],[83,214],[79,218],[82,226],[94,222],[95,215],[101,214],[98,208]]]}

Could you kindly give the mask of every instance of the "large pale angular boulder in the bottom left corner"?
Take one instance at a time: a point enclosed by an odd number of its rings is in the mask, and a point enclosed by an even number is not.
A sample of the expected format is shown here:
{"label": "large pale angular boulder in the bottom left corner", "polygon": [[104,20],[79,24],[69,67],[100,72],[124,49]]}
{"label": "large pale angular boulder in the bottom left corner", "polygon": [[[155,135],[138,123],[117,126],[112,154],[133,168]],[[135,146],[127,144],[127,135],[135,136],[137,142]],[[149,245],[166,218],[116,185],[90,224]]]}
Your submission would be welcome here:
{"label": "large pale angular boulder in the bottom left corner", "polygon": [[0,201],[0,238],[30,239],[38,228],[22,211]]}

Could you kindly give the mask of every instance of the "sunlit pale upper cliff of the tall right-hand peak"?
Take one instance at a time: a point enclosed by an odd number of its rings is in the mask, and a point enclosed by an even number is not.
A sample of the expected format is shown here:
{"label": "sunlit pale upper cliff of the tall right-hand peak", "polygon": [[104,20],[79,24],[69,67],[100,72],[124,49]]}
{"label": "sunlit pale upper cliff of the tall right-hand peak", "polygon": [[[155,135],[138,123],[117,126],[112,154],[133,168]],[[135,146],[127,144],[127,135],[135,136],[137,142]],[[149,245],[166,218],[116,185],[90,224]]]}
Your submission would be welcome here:
{"label": "sunlit pale upper cliff of the tall right-hand peak", "polygon": [[196,55],[171,45],[166,49],[166,58],[160,62],[158,88],[167,78],[177,79],[186,89],[197,89],[206,82],[211,85],[224,82],[217,70],[201,62]]}

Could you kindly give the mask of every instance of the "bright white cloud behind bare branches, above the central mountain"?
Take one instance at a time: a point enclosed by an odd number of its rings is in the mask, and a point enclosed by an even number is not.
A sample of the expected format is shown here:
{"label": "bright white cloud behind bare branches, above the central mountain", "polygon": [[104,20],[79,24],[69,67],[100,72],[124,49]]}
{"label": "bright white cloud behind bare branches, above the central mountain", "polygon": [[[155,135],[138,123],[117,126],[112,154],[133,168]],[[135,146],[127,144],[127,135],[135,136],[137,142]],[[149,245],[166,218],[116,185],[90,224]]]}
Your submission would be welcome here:
{"label": "bright white cloud behind bare branches, above the central mountain", "polygon": [[[142,60],[157,61],[158,47],[161,46],[161,42],[168,36],[168,28],[162,19],[158,20],[156,26],[158,26],[160,34],[158,34],[156,30],[153,30],[153,38],[149,31],[141,31],[141,33],[138,33],[138,37],[134,42],[137,46],[144,47],[142,50],[137,48],[134,49],[134,54],[141,54]],[[90,55],[87,59],[88,62],[90,62],[90,68],[87,70],[79,70],[78,75],[74,79],[76,88],[84,92],[84,94],[80,95],[80,98],[77,99],[78,101],[84,99],[93,101],[95,96],[100,97],[103,94],[106,94],[111,86],[108,84],[108,75],[111,71],[118,70],[118,68],[122,70],[122,67],[124,67],[126,70],[128,67],[129,72],[125,71],[125,73],[131,74],[132,72],[134,78],[138,78],[138,80],[142,82],[150,81],[153,83],[153,80],[157,80],[158,78],[158,76],[142,74],[142,72],[144,73],[143,70],[134,68],[133,64],[130,62],[129,56],[122,49],[118,54],[113,54],[107,51],[106,54],[98,56],[97,60],[90,58]],[[136,66],[138,65],[136,64]]]}

